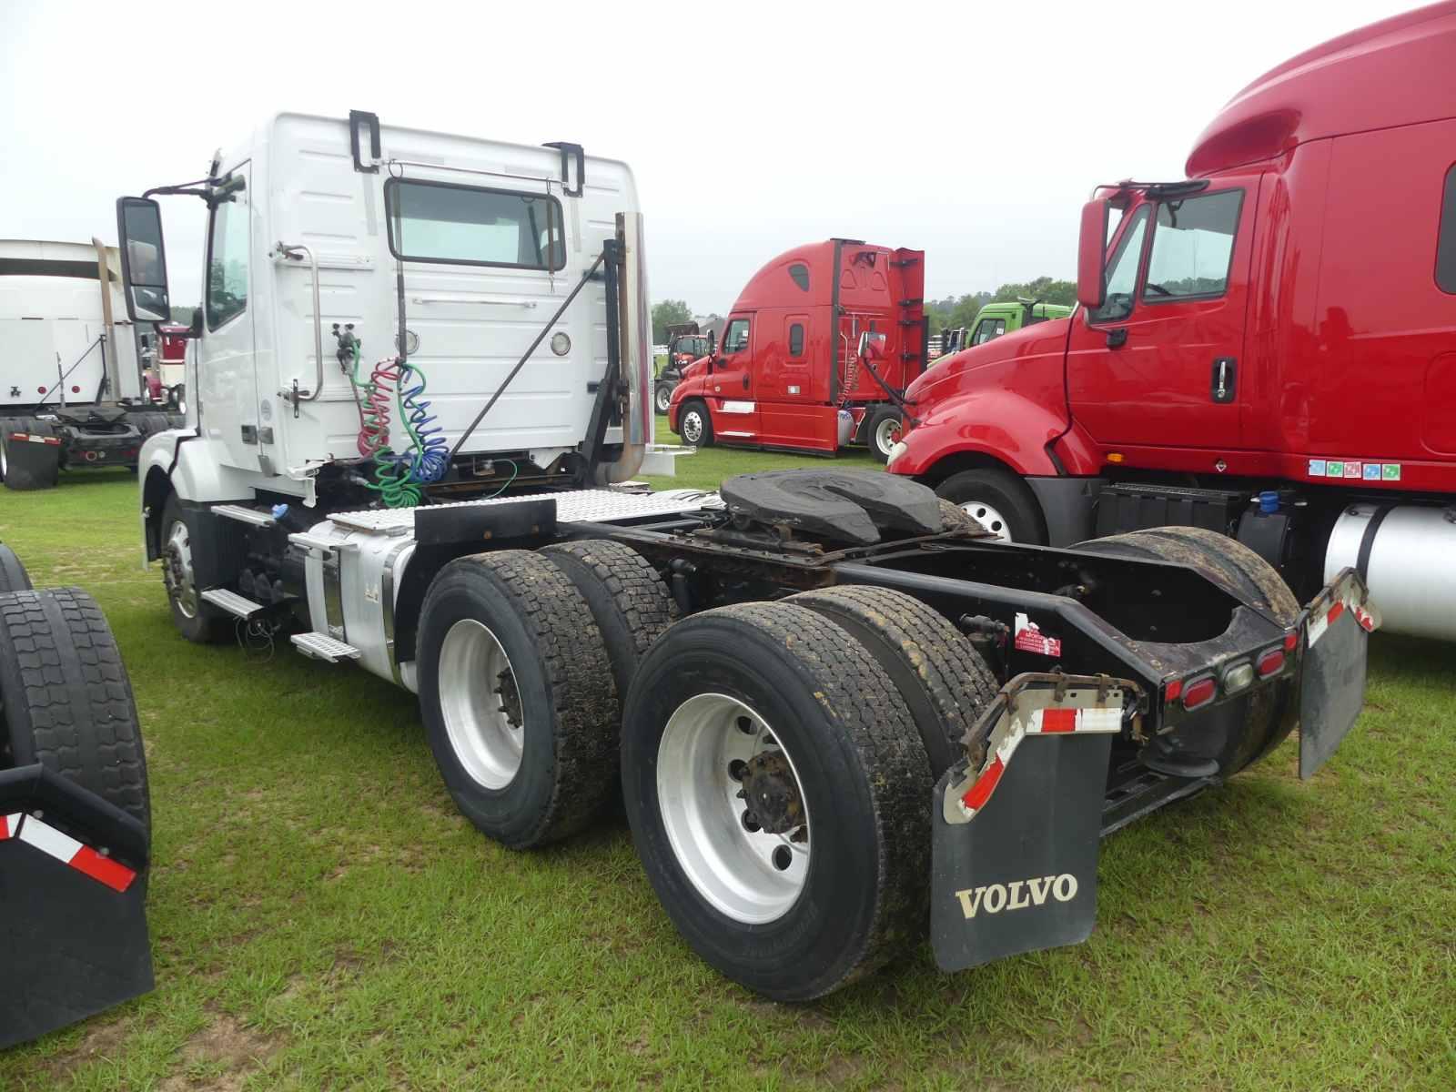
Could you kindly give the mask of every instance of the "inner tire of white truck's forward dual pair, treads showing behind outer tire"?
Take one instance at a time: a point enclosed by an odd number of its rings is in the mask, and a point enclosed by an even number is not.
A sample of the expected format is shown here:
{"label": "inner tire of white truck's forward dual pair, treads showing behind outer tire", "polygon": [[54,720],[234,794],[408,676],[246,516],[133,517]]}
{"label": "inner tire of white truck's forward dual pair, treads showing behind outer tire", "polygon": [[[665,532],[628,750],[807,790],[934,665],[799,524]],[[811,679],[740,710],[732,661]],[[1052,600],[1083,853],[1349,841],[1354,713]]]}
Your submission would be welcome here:
{"label": "inner tire of white truck's forward dual pair, treads showing behind outer tire", "polygon": [[617,689],[617,713],[638,664],[677,614],[667,584],[646,558],[609,539],[547,546],[542,556],[566,574],[601,630]]}

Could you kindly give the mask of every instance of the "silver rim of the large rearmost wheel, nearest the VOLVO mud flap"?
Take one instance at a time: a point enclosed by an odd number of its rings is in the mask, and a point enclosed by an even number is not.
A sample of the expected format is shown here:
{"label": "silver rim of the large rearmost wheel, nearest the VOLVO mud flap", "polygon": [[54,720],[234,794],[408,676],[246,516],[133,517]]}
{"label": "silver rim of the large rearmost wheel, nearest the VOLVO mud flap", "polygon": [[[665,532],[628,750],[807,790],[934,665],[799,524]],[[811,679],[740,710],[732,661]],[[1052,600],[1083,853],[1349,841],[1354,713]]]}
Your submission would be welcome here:
{"label": "silver rim of the large rearmost wheel, nearest the VOLVO mud flap", "polygon": [[[744,731],[744,727],[750,731]],[[775,922],[798,901],[810,871],[810,808],[783,834],[748,830],[729,763],[764,751],[794,757],[769,724],[727,695],[695,695],[667,719],[657,751],[657,799],[677,863],[716,910],[747,925]],[[802,840],[794,840],[802,834]]]}

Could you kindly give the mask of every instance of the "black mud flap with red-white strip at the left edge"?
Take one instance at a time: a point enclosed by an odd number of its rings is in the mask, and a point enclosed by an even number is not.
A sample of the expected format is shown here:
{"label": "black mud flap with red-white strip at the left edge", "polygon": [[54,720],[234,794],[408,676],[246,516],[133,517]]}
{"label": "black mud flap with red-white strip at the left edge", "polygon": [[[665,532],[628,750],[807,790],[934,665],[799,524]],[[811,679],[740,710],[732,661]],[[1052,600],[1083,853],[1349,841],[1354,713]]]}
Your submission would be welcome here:
{"label": "black mud flap with red-white strip at the left edge", "polygon": [[0,1050],[153,987],[147,831],[44,770],[0,772]]}

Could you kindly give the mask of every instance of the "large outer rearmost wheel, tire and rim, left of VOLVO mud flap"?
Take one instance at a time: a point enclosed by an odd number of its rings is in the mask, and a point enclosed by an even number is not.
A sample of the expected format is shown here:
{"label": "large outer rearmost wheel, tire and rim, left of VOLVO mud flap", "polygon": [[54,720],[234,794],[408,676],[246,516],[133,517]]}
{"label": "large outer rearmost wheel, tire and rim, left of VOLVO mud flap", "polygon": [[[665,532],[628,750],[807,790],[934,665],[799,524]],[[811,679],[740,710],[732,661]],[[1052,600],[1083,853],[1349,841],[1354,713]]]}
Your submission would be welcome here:
{"label": "large outer rearmost wheel, tire and rim, left of VOLVO mud flap", "polygon": [[693,951],[775,1000],[925,936],[930,785],[894,683],[799,606],[678,622],[628,696],[622,788],[648,879]]}

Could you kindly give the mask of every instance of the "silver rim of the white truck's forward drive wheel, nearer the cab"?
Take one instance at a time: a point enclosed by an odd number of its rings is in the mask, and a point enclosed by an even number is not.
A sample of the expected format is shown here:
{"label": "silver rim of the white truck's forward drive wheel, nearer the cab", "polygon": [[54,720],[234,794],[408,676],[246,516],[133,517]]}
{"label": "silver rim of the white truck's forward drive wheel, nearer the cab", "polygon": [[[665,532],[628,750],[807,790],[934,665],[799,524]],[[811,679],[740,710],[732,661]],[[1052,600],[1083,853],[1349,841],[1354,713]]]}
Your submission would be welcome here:
{"label": "silver rim of the white truck's forward drive wheel, nearer the cab", "polygon": [[[460,619],[440,646],[440,712],[456,759],[470,779],[488,789],[504,789],[521,769],[526,725],[507,705],[515,686],[510,657],[486,626]],[[502,690],[507,690],[502,693]]]}

